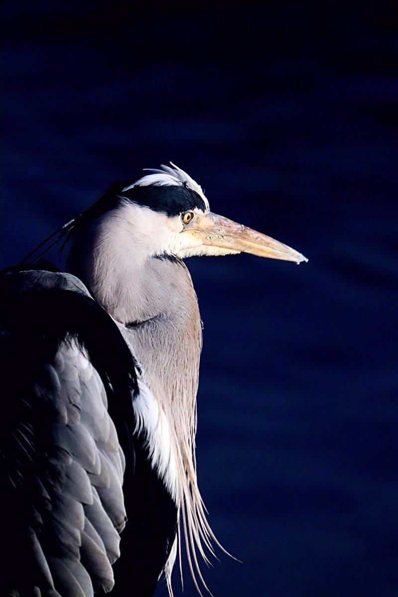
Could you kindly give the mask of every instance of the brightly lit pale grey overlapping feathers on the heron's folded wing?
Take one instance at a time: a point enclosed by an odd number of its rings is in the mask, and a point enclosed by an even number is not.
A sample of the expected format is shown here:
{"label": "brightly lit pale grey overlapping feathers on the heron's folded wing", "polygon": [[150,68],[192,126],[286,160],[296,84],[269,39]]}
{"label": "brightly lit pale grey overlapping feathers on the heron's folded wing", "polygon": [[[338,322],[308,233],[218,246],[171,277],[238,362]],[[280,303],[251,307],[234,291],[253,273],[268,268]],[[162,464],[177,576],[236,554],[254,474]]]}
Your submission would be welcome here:
{"label": "brightly lit pale grey overlapping feathers on the heron's folded wing", "polygon": [[[38,386],[38,392],[50,397],[55,448],[50,458],[53,466],[62,470],[53,485],[55,491],[51,495],[46,492],[51,503],[50,524],[62,558],[45,559],[35,536],[32,541],[37,546],[38,570],[47,577],[49,587],[58,586],[63,597],[88,597],[93,585],[112,588],[111,564],[119,555],[119,533],[125,524],[120,447],[112,441],[110,429],[114,426],[104,395],[98,393],[99,383],[97,372],[72,343],[60,347]],[[64,387],[72,389],[67,396],[62,395]],[[94,428],[98,432],[98,411],[106,424],[102,433],[93,434]],[[110,458],[116,461],[112,463]]]}

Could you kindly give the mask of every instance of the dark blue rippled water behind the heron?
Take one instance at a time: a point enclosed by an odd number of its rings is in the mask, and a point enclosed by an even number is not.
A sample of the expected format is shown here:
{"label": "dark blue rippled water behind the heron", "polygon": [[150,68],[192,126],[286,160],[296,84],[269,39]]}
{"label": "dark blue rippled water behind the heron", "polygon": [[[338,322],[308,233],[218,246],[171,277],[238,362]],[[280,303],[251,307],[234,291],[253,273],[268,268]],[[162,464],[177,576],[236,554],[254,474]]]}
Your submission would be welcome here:
{"label": "dark blue rippled water behind the heron", "polygon": [[169,160],[213,211],[309,258],[187,261],[205,324],[199,485],[243,562],[205,570],[215,597],[398,595],[387,6],[4,2],[2,266]]}

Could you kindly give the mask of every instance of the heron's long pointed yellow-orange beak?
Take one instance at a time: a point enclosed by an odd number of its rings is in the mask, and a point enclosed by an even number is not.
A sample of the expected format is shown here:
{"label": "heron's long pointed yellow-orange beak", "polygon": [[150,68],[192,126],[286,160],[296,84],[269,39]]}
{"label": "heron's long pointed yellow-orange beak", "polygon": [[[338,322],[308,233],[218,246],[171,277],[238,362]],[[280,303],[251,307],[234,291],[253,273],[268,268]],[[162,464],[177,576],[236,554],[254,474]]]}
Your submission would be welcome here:
{"label": "heron's long pointed yellow-orange beak", "polygon": [[301,253],[282,242],[212,212],[206,216],[199,216],[191,230],[200,236],[203,245],[209,247],[220,247],[238,253],[251,253],[258,257],[295,261],[295,263],[308,261]]}

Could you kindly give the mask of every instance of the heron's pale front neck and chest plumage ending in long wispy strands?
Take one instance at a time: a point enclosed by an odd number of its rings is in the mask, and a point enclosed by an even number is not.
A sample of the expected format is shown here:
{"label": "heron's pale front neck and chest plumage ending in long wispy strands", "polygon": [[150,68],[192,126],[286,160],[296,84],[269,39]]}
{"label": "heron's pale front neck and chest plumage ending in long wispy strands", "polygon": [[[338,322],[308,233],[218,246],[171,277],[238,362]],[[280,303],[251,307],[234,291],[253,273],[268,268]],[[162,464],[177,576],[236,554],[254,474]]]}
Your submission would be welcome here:
{"label": "heron's pale front neck and chest plumage ending in long wispy strands", "polygon": [[[150,433],[153,435],[150,441],[155,445],[159,438],[162,438],[163,455],[160,456],[159,451],[156,451],[156,460],[153,452],[153,466],[157,467],[159,472],[162,469],[173,497],[181,506],[180,527],[183,530],[192,577],[199,590],[196,573],[203,586],[205,582],[200,573],[196,551],[198,550],[207,562],[205,547],[213,553],[211,541],[218,542],[206,520],[196,476],[196,392],[202,348],[202,324],[189,273],[182,264],[177,267],[180,269],[178,276],[183,278],[183,283],[180,280],[179,284],[180,290],[183,290],[180,292],[180,301],[183,304],[180,304],[175,312],[169,309],[150,321],[132,325],[129,327],[127,339],[138,361],[145,363],[143,381],[152,390],[153,399],[159,406],[158,424],[152,427]],[[178,376],[175,375],[175,363],[179,364]],[[156,407],[155,410],[158,412]],[[165,421],[168,421],[167,437]],[[166,460],[172,462],[172,466],[162,466],[161,461],[164,463]],[[180,529],[178,547],[181,557]],[[175,553],[176,550],[172,552],[166,566],[166,580],[170,592]]]}

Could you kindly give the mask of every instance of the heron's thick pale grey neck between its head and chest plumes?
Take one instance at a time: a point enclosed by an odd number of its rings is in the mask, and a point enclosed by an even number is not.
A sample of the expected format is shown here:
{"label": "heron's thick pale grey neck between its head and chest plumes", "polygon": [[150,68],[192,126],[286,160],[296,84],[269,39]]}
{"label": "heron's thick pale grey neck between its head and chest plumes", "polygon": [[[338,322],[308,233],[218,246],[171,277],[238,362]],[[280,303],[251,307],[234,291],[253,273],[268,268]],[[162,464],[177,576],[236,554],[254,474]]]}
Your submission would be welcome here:
{"label": "heron's thick pale grey neck between its head and chest plumes", "polygon": [[[202,347],[198,300],[178,259],[138,256],[123,233],[107,236],[98,223],[78,230],[68,269],[116,321],[140,362],[146,383],[165,410],[195,418]],[[193,423],[195,424],[195,423]]]}

